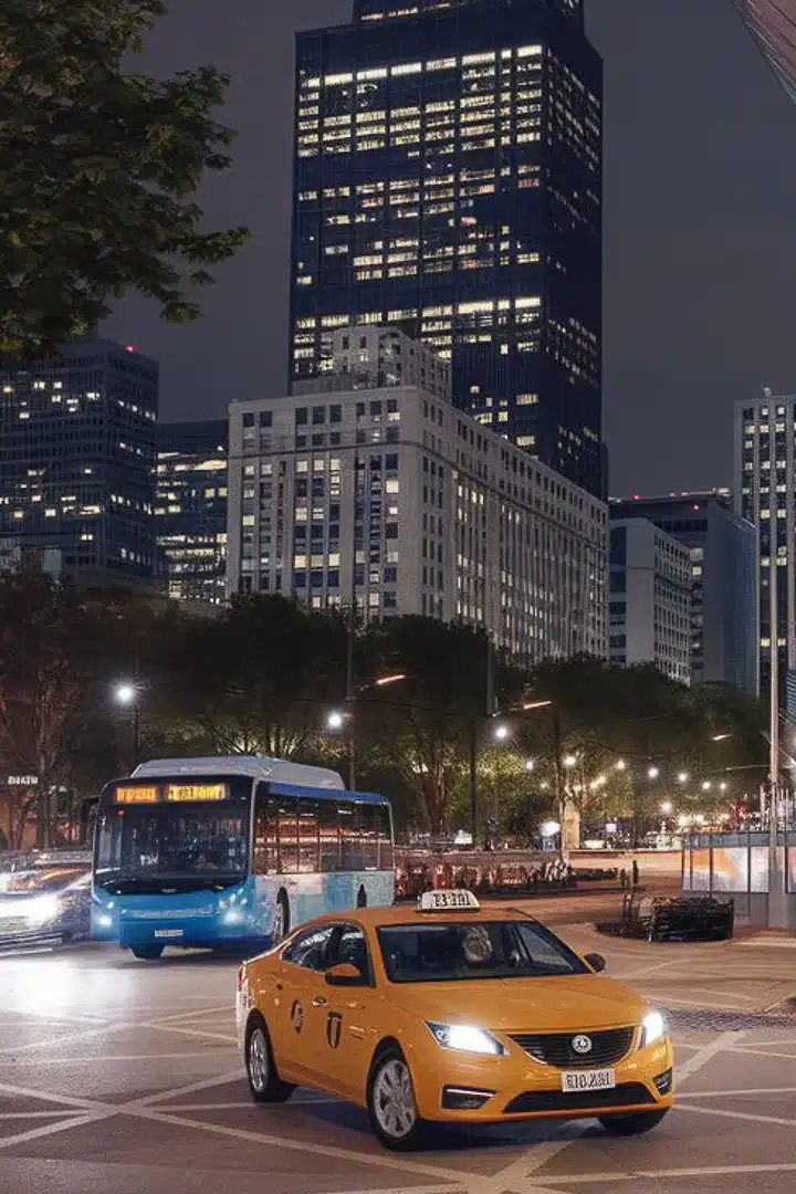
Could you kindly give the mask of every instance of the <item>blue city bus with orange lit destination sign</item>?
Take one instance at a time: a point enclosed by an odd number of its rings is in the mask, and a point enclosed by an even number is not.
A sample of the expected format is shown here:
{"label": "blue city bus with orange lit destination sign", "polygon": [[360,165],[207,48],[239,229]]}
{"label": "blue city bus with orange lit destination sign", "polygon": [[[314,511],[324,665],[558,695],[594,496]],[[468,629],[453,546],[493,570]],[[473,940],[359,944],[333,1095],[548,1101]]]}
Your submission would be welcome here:
{"label": "blue city bus with orange lit destination sign", "polygon": [[277,944],[322,912],[391,904],[393,818],[337,771],[254,756],[143,763],[99,798],[92,935],[136,958]]}

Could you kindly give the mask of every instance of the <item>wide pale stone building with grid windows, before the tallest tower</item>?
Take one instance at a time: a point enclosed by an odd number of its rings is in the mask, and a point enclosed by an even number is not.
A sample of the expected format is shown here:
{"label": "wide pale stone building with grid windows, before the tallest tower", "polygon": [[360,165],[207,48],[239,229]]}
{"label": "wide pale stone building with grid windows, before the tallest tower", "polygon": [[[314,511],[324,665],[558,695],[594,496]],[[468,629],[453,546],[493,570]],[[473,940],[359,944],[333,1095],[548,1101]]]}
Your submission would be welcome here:
{"label": "wide pale stone building with grid windows, before the tallest tower", "polygon": [[606,517],[418,386],[230,407],[229,593],[354,595],[366,618],[462,618],[530,660],[605,656]]}

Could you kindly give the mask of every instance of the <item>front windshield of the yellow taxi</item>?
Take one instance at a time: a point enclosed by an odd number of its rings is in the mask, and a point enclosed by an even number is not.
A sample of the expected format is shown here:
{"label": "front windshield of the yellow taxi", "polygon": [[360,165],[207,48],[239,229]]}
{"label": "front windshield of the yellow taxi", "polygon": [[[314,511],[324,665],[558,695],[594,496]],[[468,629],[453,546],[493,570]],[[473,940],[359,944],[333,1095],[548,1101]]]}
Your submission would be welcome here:
{"label": "front windshield of the yellow taxi", "polygon": [[390,924],[377,934],[390,983],[590,973],[563,941],[532,921]]}

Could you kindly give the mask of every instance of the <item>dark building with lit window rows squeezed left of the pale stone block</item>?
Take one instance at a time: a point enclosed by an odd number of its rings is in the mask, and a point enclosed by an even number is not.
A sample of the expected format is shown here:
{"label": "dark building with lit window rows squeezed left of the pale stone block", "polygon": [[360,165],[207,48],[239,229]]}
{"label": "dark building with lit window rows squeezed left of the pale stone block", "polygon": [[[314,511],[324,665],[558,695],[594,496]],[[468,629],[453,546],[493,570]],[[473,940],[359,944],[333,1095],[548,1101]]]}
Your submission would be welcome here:
{"label": "dark building with lit window rows squeezed left of the pale stone block", "polygon": [[158,429],[155,524],[173,601],[221,605],[227,564],[227,420]]}

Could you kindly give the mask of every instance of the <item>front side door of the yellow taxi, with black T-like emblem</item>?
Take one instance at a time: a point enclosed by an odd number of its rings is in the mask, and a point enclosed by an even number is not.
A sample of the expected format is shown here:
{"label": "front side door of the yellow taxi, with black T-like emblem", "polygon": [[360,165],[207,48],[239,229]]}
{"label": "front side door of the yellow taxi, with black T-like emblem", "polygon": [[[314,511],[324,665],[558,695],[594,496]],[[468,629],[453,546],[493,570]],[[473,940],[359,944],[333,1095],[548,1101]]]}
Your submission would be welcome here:
{"label": "front side door of the yellow taxi, with black T-like emblem", "polygon": [[372,962],[365,933],[358,924],[339,924],[332,936],[326,966],[356,966],[366,986],[329,986],[325,974],[310,984],[313,1064],[325,1090],[362,1101],[370,1067],[370,1033],[375,1003]]}

